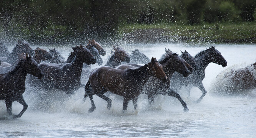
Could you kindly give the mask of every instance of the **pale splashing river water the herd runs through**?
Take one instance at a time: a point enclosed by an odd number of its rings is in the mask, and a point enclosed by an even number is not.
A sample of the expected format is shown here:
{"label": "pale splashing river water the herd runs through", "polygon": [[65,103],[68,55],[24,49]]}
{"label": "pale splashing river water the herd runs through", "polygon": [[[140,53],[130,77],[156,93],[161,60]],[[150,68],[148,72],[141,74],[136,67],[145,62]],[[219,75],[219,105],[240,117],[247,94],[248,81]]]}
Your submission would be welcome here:
{"label": "pale splashing river water the herd runs through", "polygon": [[[104,45],[103,45],[104,46]],[[180,54],[188,51],[194,56],[210,45],[191,44],[125,44],[124,49],[131,53],[139,49],[146,56],[159,59],[165,48]],[[158,95],[153,105],[148,104],[146,95],[141,94],[138,109],[133,110],[132,102],[126,113],[122,112],[123,100],[111,94],[112,107],[107,109],[105,100],[93,96],[96,110],[88,113],[91,107],[89,99],[83,101],[84,89],[67,96],[63,92],[40,92],[27,88],[23,94],[28,110],[21,118],[7,117],[5,103],[0,101],[0,137],[256,137],[256,89],[248,90],[243,95],[223,97],[211,94],[216,85],[219,72],[232,67],[246,67],[256,61],[256,45],[213,44],[228,62],[227,67],[210,63],[205,70],[203,85],[208,91],[204,99],[196,104],[201,91],[192,87],[190,98],[185,88],[180,92],[187,103],[189,112],[183,112],[180,102],[173,98]],[[37,46],[32,46],[35,49]],[[11,50],[13,46],[10,46]],[[46,48],[46,47],[42,47]],[[67,58],[70,46],[57,46]],[[107,55],[111,47],[107,46]],[[91,66],[95,68],[97,65]],[[82,78],[86,84],[87,78]],[[212,84],[215,84],[214,86]],[[38,92],[39,91],[39,92]],[[41,96],[38,96],[38,93]],[[45,96],[45,94],[47,96]],[[42,95],[43,98],[42,98]],[[22,105],[13,103],[13,114],[22,110]]]}

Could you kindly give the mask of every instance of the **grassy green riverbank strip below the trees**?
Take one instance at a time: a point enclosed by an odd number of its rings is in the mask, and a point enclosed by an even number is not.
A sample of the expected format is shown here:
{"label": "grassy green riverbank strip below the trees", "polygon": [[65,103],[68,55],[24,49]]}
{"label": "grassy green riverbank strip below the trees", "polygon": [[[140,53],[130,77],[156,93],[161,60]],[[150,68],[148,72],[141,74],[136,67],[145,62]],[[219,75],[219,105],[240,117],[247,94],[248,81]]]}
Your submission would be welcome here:
{"label": "grassy green riverbank strip below the trees", "polygon": [[121,39],[129,43],[256,43],[256,23],[204,25],[123,25]]}

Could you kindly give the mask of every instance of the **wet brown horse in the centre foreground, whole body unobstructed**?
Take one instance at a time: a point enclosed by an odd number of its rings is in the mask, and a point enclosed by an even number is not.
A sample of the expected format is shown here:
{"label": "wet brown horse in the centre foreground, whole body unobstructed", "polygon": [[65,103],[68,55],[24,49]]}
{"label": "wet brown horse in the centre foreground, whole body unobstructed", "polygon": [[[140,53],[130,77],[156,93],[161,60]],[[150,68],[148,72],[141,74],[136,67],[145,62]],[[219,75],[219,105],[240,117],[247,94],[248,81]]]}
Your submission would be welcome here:
{"label": "wet brown horse in the centre foreground, whole body unobstructed", "polygon": [[106,100],[108,102],[107,108],[111,108],[111,99],[103,95],[107,91],[123,96],[123,111],[127,110],[130,100],[133,100],[136,109],[138,96],[151,76],[162,81],[168,79],[162,65],[156,58],[152,58],[151,62],[137,69],[121,70],[107,66],[95,69],[91,72],[89,81],[85,85],[85,98],[89,96],[91,100],[89,112],[93,112],[96,108],[93,102],[93,95],[95,94]]}

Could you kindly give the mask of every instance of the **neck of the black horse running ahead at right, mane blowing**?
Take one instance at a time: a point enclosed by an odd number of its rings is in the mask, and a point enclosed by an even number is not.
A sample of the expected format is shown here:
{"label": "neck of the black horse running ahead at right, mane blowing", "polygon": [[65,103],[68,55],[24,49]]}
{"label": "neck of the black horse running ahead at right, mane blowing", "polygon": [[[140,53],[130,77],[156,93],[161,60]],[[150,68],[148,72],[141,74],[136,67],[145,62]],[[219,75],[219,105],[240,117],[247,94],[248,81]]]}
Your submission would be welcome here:
{"label": "neck of the black horse running ahead at right, mane blowing", "polygon": [[196,64],[198,65],[198,70],[203,70],[206,69],[206,67],[209,65],[209,63],[213,62],[211,58],[209,58],[209,54],[205,53],[202,56],[199,56],[194,59]]}

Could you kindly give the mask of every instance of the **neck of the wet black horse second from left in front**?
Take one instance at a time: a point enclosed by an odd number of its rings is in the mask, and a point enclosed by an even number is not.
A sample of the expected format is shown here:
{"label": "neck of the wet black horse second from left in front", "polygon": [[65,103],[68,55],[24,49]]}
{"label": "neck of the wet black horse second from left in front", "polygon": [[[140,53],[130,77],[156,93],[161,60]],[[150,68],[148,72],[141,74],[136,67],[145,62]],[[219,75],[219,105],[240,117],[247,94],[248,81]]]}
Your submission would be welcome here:
{"label": "neck of the wet black horse second from left in front", "polygon": [[70,63],[70,69],[75,71],[76,75],[81,76],[83,69],[83,62],[81,61],[81,55],[79,52],[76,53],[73,61]]}

